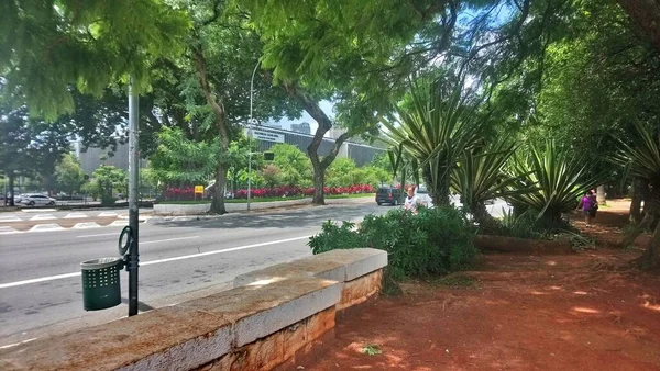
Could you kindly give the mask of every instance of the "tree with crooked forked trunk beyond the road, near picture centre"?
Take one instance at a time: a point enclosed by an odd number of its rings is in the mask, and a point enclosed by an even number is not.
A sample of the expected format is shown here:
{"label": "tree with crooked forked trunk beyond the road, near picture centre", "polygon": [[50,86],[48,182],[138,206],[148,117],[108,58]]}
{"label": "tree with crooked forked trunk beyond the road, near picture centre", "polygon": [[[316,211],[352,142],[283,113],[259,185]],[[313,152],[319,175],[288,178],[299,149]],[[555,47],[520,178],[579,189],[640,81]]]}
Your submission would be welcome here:
{"label": "tree with crooked forked trunk beyond the road, near picture centre", "polygon": [[[374,131],[377,112],[389,110],[389,98],[402,90],[407,64],[391,58],[414,40],[424,15],[410,2],[306,1],[282,4],[245,2],[251,22],[264,43],[262,65],[317,122],[307,148],[314,169],[314,203],[323,204],[326,169],[351,136]],[[331,99],[331,119],[319,102]],[[343,127],[330,153],[318,149],[332,127]]]}

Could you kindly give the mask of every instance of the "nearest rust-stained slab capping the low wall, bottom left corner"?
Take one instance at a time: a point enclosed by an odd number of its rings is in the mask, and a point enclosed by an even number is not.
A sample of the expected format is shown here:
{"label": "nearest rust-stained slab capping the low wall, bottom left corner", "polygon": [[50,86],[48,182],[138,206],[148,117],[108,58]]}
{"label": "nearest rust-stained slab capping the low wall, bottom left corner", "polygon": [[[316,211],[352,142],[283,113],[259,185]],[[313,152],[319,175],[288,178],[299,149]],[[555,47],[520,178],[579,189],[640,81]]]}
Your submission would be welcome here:
{"label": "nearest rust-stained slab capping the low wall, bottom left corner", "polygon": [[222,317],[176,306],[9,348],[15,370],[189,370],[231,350]]}

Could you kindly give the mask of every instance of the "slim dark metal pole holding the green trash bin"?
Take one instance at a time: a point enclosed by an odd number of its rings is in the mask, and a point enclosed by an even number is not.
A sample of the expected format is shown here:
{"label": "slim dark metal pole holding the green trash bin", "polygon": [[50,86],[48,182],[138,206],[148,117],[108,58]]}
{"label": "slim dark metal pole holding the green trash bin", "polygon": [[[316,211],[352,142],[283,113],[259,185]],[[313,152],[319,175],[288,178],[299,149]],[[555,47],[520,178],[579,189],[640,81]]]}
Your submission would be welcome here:
{"label": "slim dark metal pole holding the green trash bin", "polygon": [[139,97],[133,89],[133,79],[129,83],[129,225],[131,226],[133,244],[129,250],[129,316],[138,314],[138,268],[140,254],[138,251],[138,190],[140,171],[140,147],[138,145],[139,130]]}

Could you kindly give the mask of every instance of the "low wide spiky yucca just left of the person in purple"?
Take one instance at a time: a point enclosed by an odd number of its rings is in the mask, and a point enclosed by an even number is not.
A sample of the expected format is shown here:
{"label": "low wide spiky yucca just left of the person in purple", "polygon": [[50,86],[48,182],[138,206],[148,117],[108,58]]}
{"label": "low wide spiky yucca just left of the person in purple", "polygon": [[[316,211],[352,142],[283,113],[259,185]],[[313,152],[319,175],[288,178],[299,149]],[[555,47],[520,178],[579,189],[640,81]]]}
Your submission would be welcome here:
{"label": "low wide spiky yucca just left of the person in purple", "polygon": [[514,206],[531,209],[537,220],[548,218],[559,223],[562,213],[571,212],[586,190],[597,186],[602,177],[590,175],[591,165],[575,158],[566,149],[559,148],[550,140],[544,148],[530,146],[527,155],[518,150],[510,161],[509,171],[521,181],[514,189],[535,187],[520,194],[509,194]]}

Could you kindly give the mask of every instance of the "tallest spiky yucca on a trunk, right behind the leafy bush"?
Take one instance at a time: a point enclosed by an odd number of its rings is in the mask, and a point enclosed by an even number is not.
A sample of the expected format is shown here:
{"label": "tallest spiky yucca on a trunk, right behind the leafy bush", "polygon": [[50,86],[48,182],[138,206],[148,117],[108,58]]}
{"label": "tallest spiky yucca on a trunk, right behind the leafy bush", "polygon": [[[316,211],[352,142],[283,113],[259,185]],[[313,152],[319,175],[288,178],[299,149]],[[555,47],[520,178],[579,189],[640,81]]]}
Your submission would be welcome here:
{"label": "tallest spiky yucca on a trunk, right behind the leafy bush", "polygon": [[437,205],[449,204],[451,171],[459,156],[479,138],[480,123],[462,97],[460,81],[450,93],[439,83],[411,83],[410,105],[397,106],[397,117],[383,119],[391,145],[402,146],[418,160],[424,180]]}

